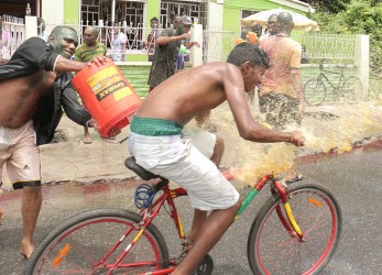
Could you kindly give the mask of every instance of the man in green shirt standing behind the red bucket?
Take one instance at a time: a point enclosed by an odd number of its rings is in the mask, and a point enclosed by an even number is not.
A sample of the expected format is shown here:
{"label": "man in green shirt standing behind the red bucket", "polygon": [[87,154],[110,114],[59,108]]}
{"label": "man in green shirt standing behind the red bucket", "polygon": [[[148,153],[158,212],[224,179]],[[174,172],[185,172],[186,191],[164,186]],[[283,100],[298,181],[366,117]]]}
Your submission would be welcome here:
{"label": "man in green shirt standing behind the red bucket", "polygon": [[[107,48],[103,43],[98,42],[99,30],[96,26],[87,26],[84,31],[84,42],[76,48],[76,62],[89,62],[92,57],[106,55]],[[91,143],[89,128],[84,127],[85,135],[83,142]]]}

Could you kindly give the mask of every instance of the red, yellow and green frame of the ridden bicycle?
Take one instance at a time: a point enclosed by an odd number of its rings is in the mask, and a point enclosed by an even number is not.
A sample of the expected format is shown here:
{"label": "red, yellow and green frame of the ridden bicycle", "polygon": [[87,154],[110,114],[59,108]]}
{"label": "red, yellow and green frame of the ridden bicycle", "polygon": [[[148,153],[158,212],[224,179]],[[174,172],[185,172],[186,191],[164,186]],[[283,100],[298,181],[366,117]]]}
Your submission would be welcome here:
{"label": "red, yellow and green frame of the ridden bicycle", "polygon": [[[232,174],[226,173],[225,177],[227,179],[232,179],[233,176]],[[161,182],[163,184],[163,182]],[[160,183],[160,184],[161,184]],[[277,211],[277,216],[280,218],[280,220],[282,221],[285,230],[287,230],[290,232],[290,234],[294,234],[297,235],[301,241],[303,241],[303,233],[298,227],[298,224],[296,223],[293,213],[292,213],[292,209],[287,202],[287,187],[283,182],[279,182],[274,178],[274,176],[272,174],[264,176],[263,178],[261,178],[258,184],[251,188],[251,190],[245,195],[242,206],[239,209],[238,216],[236,217],[236,219],[238,217],[241,216],[241,213],[245,210],[245,208],[250,205],[250,202],[255,198],[255,196],[261,191],[261,189],[268,184],[268,183],[272,183],[272,193],[279,193],[281,196],[281,199],[283,201],[284,208],[285,208],[285,212],[286,212],[286,218],[284,217],[280,206],[277,207],[276,211]],[[132,265],[129,264],[121,264],[123,257],[129,253],[129,251],[131,251],[131,249],[134,246],[134,244],[138,242],[138,240],[140,239],[140,237],[143,234],[144,230],[151,224],[151,222],[154,220],[155,217],[159,216],[160,210],[162,209],[162,207],[165,205],[165,202],[167,202],[167,205],[170,206],[170,217],[174,220],[175,223],[175,228],[177,230],[178,237],[181,239],[181,243],[184,245],[187,241],[187,237],[184,232],[184,228],[182,224],[182,221],[179,219],[174,199],[182,197],[182,196],[187,196],[187,191],[182,188],[175,188],[175,189],[171,189],[168,187],[168,185],[166,183],[164,183],[163,187],[160,188],[163,194],[153,201],[152,206],[149,208],[144,208],[140,211],[140,215],[142,216],[142,221],[138,224],[139,227],[139,232],[137,233],[137,235],[133,238],[133,241],[131,243],[128,244],[128,246],[125,248],[125,250],[123,251],[123,253],[119,256],[119,258],[117,260],[116,263],[111,264],[111,265],[106,265],[107,268],[109,270],[108,274],[111,274],[112,271],[119,268],[119,267],[129,267],[129,266],[139,266],[139,265],[155,265],[157,263],[134,263]],[[292,226],[292,227],[291,227]],[[124,233],[124,237],[127,237],[130,232],[132,231],[129,230],[128,232]],[[109,253],[101,260],[99,261],[95,266],[99,266],[99,265],[103,265],[103,263],[107,261],[107,258],[112,254],[112,252],[121,244],[121,242],[123,241],[123,237],[116,243],[116,245],[109,251]],[[175,266],[174,260],[170,260],[170,264]],[[151,275],[164,275],[164,274],[170,274],[171,272],[173,272],[175,270],[175,267],[168,267],[168,268],[164,268],[164,270],[159,270],[159,271],[153,271],[150,274]]]}

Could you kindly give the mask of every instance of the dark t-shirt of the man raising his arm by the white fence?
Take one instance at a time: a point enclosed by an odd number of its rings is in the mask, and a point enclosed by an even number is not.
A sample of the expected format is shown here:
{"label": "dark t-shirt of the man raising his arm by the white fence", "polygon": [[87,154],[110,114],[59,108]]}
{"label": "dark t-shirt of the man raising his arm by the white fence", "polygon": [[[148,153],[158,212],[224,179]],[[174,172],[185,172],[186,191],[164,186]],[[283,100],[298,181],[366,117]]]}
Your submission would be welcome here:
{"label": "dark t-shirt of the man raising his arm by the white fence", "polygon": [[[160,36],[177,36],[176,30],[167,28]],[[168,77],[175,74],[175,64],[179,52],[181,41],[171,42],[166,45],[159,45],[155,51],[155,58],[151,66],[149,85],[156,87]]]}

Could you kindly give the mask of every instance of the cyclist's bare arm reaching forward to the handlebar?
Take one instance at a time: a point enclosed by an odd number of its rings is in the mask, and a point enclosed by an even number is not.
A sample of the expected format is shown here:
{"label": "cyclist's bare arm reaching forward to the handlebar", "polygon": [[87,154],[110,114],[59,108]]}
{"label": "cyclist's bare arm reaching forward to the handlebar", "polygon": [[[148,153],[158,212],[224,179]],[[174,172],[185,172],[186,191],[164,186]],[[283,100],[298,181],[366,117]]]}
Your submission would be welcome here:
{"label": "cyclist's bare arm reaching forward to the handlebar", "polygon": [[[248,64],[248,66],[251,65]],[[283,133],[273,131],[253,119],[244,98],[244,84],[238,67],[231,64],[227,65],[227,69],[222,75],[222,84],[241,138],[253,142],[288,142],[295,145],[304,140],[299,132]]]}

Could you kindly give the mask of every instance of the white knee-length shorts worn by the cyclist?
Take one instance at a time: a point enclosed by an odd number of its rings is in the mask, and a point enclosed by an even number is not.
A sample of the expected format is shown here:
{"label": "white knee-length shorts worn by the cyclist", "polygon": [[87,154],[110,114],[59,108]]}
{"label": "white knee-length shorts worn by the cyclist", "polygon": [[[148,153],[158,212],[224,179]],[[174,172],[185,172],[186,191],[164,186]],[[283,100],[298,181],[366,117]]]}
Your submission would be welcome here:
{"label": "white knee-length shorts worn by the cyclist", "polygon": [[189,138],[130,133],[129,150],[143,168],[185,188],[193,208],[204,211],[227,209],[239,200],[237,189]]}

